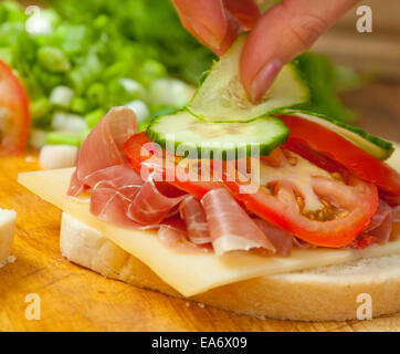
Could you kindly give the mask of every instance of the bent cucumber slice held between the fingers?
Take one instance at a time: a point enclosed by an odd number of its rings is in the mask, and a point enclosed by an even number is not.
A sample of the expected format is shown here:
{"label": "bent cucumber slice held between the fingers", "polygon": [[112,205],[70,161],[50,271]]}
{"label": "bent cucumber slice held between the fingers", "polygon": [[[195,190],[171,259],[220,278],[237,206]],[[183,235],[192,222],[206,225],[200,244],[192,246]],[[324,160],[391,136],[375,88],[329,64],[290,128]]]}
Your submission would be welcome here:
{"label": "bent cucumber slice held between the fingers", "polygon": [[250,122],[276,108],[309,101],[308,87],[292,63],[283,67],[269,92],[253,104],[248,98],[239,72],[245,38],[245,34],[241,35],[202,79],[187,107],[194,116],[208,122]]}

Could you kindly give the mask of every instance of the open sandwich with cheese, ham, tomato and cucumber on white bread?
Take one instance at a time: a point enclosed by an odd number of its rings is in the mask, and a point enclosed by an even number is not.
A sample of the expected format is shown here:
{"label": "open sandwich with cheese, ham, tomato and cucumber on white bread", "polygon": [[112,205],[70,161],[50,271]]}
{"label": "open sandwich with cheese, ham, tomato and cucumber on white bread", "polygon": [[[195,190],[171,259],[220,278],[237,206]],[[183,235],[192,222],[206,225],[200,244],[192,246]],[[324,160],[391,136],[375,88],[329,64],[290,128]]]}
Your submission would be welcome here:
{"label": "open sandwich with cheese, ham, tomato and cucumber on white bread", "polygon": [[254,316],[352,320],[362,294],[400,311],[393,145],[309,111],[295,62],[249,101],[243,44],[185,110],[137,133],[112,108],[76,168],[19,181],[63,210],[62,254],[103,275]]}

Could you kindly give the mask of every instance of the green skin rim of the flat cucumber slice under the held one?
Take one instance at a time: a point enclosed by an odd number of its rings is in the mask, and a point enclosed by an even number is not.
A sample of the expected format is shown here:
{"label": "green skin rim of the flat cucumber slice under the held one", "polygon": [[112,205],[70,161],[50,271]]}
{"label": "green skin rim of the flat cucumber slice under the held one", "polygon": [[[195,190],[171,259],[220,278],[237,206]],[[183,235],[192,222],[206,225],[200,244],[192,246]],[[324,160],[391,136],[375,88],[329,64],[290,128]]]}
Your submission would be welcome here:
{"label": "green skin rim of the flat cucumber slice under the held one", "polygon": [[[185,111],[182,111],[185,112]],[[177,113],[179,114],[179,113]],[[167,140],[165,138],[165,134],[162,133],[157,133],[156,132],[156,125],[158,124],[159,119],[162,118],[162,117],[157,117],[155,119],[152,119],[151,124],[148,126],[147,131],[146,131],[146,136],[149,138],[149,140],[154,142],[154,143],[157,143],[160,147],[162,147],[164,149],[167,149],[168,146],[167,146]],[[207,122],[207,123],[210,123],[210,122]],[[234,123],[242,123],[242,122],[234,122]],[[276,122],[277,123],[277,122]],[[223,122],[223,123],[220,123],[220,124],[229,124],[228,122]],[[280,124],[280,129],[281,129],[281,134],[278,136],[276,136],[276,138],[274,139],[274,142],[270,142],[267,144],[260,144],[260,156],[267,156],[270,155],[275,148],[280,147],[281,145],[285,144],[287,138],[288,138],[288,134],[290,134],[290,131],[287,128],[287,126],[282,122],[282,124]],[[189,149],[196,149],[197,150],[197,154],[198,156],[200,157],[201,156],[201,153],[206,153],[210,156],[210,158],[213,158],[213,150],[215,150],[215,148],[208,148],[208,147],[204,147],[204,146],[197,146],[197,145],[193,145],[193,144],[190,144],[187,143],[187,142],[175,142],[175,150],[172,153],[176,153],[176,150],[178,149],[178,146],[180,147],[187,147]],[[231,155],[234,155],[234,156],[238,156],[240,153],[243,152],[243,145],[240,145],[238,147],[233,147],[233,148],[230,148],[229,150],[224,150],[224,149],[220,149],[221,152],[221,156],[222,156],[222,160],[228,160],[229,156]],[[228,152],[230,153],[230,155],[228,156]],[[234,153],[232,153],[234,152]],[[246,156],[250,157],[251,154],[252,154],[252,145],[251,143],[249,143],[248,145],[245,145],[245,153],[246,153]],[[183,156],[183,157],[187,157],[187,156]]]}

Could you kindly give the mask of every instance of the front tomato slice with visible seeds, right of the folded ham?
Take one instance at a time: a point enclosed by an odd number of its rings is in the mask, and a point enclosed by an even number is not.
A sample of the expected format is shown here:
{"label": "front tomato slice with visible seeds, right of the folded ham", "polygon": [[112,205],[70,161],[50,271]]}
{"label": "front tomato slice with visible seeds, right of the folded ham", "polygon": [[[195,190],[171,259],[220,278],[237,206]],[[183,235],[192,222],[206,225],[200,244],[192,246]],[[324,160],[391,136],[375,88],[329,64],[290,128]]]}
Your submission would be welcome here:
{"label": "front tomato slice with visible seeds, right of the folded ham", "polygon": [[[274,157],[269,165],[278,170],[276,162]],[[319,220],[318,215],[310,217],[302,212],[296,185],[280,176],[272,188],[261,186],[252,194],[241,192],[243,184],[232,178],[225,180],[225,186],[249,210],[312,244],[330,248],[349,244],[368,227],[378,208],[378,191],[372,184],[351,175],[347,176],[346,184],[310,175],[313,190],[331,207],[330,216]]]}

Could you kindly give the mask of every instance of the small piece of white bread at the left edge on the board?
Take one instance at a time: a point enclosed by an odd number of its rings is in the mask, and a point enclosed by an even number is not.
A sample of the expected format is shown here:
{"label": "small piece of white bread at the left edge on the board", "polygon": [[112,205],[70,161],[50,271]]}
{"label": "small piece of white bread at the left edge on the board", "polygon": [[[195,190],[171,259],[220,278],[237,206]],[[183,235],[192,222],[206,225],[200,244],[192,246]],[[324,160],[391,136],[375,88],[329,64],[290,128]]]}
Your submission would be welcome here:
{"label": "small piece of white bread at the left edge on the board", "polygon": [[15,230],[15,211],[0,208],[0,268],[13,261],[10,256]]}

